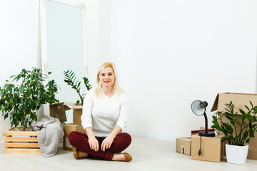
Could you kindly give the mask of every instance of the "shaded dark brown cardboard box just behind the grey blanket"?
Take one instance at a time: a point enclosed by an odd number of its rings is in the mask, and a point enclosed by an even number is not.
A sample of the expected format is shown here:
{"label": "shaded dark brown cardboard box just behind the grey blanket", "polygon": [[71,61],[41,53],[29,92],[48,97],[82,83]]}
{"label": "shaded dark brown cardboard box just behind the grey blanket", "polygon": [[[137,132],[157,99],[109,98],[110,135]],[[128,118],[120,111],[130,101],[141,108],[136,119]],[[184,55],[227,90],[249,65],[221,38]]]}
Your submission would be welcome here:
{"label": "shaded dark brown cardboard box just behind the grey blanket", "polygon": [[50,116],[54,118],[59,118],[61,123],[67,121],[66,110],[70,110],[69,106],[63,103],[54,103],[50,105]]}

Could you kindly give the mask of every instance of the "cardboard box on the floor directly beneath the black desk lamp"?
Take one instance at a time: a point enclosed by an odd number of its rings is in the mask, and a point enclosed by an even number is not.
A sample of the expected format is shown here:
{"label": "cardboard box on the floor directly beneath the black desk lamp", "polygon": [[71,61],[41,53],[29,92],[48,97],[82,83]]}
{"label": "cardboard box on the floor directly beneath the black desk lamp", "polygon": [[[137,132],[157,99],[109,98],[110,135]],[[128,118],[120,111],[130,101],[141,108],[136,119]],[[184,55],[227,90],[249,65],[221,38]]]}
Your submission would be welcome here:
{"label": "cardboard box on the floor directly beneath the black desk lamp", "polygon": [[[220,135],[201,138],[198,135],[193,135],[191,138],[191,159],[220,162],[223,159],[223,142],[221,142],[221,138],[222,136]],[[198,155],[200,145],[201,155]]]}

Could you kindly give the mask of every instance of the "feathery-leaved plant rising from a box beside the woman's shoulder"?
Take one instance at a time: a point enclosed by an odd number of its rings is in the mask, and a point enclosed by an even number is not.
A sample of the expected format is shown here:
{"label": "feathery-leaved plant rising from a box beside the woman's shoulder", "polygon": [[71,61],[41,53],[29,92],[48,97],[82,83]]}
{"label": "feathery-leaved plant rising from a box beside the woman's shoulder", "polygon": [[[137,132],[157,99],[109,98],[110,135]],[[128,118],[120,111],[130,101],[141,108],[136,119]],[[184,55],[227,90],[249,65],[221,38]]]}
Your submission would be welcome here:
{"label": "feathery-leaved plant rising from a box beside the woman's shoulder", "polygon": [[[82,77],[84,80],[84,84],[86,86],[87,90],[90,90],[92,88],[91,84],[89,83],[89,78],[86,77]],[[74,90],[76,90],[76,93],[79,94],[79,98],[81,100],[81,103],[83,105],[84,103],[84,98],[85,98],[85,93],[81,94],[81,82],[77,79],[76,74],[74,73],[74,71],[64,71],[64,82],[66,82],[69,86],[71,86],[71,88],[74,88]],[[79,100],[76,101],[76,103],[79,104]]]}

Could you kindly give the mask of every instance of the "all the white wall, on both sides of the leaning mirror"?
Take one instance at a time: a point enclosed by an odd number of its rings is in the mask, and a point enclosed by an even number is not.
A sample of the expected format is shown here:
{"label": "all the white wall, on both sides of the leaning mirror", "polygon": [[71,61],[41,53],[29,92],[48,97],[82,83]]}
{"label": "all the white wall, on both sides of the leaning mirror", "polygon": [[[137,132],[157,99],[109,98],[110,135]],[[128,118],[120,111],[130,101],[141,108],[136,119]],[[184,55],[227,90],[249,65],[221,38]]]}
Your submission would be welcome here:
{"label": "all the white wall, on both sides of the leaning mirror", "polygon": [[[0,83],[41,68],[39,1],[0,2]],[[114,61],[131,96],[127,130],[174,140],[204,125],[191,102],[217,93],[254,93],[256,1],[86,1],[89,78]],[[0,118],[0,134],[9,128]],[[4,140],[0,136],[0,141]]]}

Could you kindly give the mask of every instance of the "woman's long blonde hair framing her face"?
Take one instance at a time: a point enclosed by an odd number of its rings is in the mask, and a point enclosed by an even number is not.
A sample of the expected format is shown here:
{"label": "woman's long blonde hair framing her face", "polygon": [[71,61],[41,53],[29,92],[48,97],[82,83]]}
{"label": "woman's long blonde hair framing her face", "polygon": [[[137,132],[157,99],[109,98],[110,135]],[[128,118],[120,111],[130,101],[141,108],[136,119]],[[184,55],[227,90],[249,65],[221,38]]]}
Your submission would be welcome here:
{"label": "woman's long blonde hair framing her face", "polygon": [[113,88],[112,91],[114,93],[114,96],[116,98],[119,98],[120,94],[124,90],[122,90],[121,87],[119,86],[119,78],[118,78],[118,73],[117,73],[117,70],[116,70],[116,66],[112,62],[102,63],[101,66],[99,67],[99,71],[98,71],[97,76],[96,76],[96,81],[97,81],[96,96],[99,97],[99,98],[104,96],[104,90],[102,88],[99,75],[101,73],[101,70],[104,69],[104,68],[107,68],[107,67],[110,67],[114,71],[115,80],[114,80],[114,88]]}

